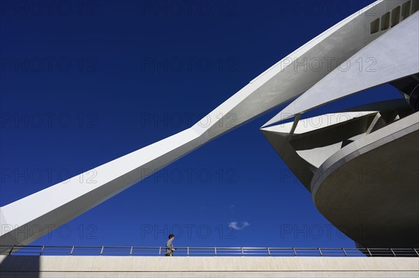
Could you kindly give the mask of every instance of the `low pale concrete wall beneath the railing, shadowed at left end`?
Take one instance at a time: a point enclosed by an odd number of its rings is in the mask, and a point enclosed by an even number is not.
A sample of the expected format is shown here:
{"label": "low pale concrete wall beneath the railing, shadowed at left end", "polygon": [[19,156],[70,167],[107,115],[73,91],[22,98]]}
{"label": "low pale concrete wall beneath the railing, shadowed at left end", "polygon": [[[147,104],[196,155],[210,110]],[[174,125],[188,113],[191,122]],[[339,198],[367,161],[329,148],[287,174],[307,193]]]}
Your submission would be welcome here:
{"label": "low pale concrete wall beneath the railing, shadowed at left end", "polygon": [[419,277],[419,258],[0,256],[8,277]]}

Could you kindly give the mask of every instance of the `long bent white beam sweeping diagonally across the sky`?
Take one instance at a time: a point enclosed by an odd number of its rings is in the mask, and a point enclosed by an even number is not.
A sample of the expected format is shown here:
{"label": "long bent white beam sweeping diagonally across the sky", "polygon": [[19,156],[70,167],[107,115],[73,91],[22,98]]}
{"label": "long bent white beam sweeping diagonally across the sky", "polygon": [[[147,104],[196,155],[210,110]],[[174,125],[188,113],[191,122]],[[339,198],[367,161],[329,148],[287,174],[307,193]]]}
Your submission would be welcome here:
{"label": "long bent white beam sweeping diagonally across the sky", "polygon": [[[92,169],[96,183],[88,183],[81,174],[3,206],[0,208],[1,244],[29,244],[40,233],[45,234],[38,229],[31,230],[32,226],[48,225],[56,229],[207,141],[303,93],[336,68],[336,61],[355,54],[381,35],[365,32],[373,20],[368,16],[372,10],[385,13],[400,3],[402,0],[378,0],[347,17],[253,79],[200,123]],[[336,61],[321,70],[305,70],[299,64],[327,57]],[[20,233],[18,229],[22,226],[33,233]]]}

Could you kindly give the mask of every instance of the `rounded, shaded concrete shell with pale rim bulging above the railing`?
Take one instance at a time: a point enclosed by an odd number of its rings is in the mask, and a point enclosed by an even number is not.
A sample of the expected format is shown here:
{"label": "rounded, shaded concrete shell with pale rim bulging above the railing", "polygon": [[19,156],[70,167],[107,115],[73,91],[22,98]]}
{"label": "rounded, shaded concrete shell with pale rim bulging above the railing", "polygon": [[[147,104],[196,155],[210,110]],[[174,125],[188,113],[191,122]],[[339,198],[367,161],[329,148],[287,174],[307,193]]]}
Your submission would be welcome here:
{"label": "rounded, shaded concrete shell with pale rim bulging above the railing", "polygon": [[355,140],[314,173],[316,207],[362,246],[419,246],[418,121],[416,112]]}

